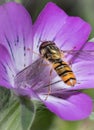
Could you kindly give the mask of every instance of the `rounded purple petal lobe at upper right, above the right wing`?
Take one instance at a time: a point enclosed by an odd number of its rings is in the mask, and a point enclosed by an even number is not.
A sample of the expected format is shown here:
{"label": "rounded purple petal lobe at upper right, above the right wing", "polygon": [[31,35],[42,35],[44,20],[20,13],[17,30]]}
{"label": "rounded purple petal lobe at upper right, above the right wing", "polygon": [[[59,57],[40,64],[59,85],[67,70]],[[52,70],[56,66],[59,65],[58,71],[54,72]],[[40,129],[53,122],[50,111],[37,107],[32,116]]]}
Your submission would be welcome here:
{"label": "rounded purple petal lobe at upper right, above the right wing", "polygon": [[80,17],[68,17],[56,36],[56,43],[65,51],[79,50],[88,39],[91,27]]}

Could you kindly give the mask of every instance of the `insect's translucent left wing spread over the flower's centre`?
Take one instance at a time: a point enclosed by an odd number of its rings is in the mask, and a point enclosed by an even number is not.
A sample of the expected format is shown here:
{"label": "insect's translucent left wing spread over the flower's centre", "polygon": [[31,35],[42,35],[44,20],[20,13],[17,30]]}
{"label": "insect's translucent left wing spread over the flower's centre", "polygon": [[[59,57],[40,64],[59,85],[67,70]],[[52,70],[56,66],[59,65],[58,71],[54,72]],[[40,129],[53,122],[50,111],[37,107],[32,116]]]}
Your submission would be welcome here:
{"label": "insect's translucent left wing spread over the flower's centre", "polygon": [[37,89],[48,84],[50,81],[50,67],[43,58],[39,58],[34,63],[19,72],[15,77],[15,84],[19,87],[26,87],[27,85]]}

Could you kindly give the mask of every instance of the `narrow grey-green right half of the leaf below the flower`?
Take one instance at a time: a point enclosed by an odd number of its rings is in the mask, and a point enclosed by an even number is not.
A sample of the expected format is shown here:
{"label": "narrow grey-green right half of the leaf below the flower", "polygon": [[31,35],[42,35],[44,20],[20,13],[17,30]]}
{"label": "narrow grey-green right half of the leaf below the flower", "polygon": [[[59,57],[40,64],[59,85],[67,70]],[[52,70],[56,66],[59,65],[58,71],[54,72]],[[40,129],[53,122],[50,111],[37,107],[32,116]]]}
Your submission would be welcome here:
{"label": "narrow grey-green right half of the leaf below the flower", "polygon": [[23,130],[29,130],[35,117],[35,107],[28,97],[20,97],[21,123]]}

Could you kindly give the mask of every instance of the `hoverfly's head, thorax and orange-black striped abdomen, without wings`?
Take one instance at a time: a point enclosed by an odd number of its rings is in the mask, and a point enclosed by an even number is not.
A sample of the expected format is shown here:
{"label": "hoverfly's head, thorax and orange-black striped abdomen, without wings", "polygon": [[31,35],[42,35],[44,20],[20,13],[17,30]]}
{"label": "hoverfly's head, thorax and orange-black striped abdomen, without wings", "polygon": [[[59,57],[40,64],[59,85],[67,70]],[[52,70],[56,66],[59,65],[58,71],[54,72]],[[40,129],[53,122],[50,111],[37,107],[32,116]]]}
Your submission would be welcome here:
{"label": "hoverfly's head, thorax and orange-black striped abdomen, without wings", "polygon": [[76,77],[71,67],[62,60],[62,52],[52,41],[44,41],[40,45],[39,52],[43,58],[52,64],[52,68],[61,77],[61,80],[69,86],[76,84]]}

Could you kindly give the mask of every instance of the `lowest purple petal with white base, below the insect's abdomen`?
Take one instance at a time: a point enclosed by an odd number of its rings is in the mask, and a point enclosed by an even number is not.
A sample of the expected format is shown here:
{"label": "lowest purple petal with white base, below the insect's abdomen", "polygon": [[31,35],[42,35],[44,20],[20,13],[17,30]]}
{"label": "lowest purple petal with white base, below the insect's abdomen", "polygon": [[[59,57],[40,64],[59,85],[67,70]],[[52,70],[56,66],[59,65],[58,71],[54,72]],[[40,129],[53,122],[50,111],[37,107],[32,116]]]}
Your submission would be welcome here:
{"label": "lowest purple petal with white base, below the insect's abdomen", "polygon": [[[63,96],[63,93],[62,93]],[[83,93],[75,93],[68,98],[41,95],[40,98],[46,107],[64,120],[82,120],[87,118],[92,111],[92,100]]]}

